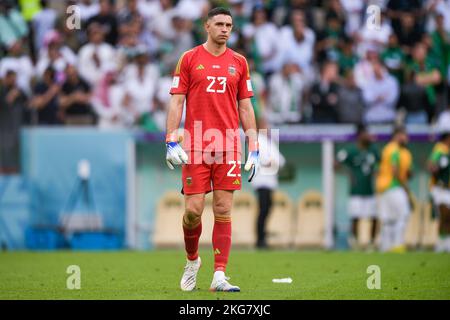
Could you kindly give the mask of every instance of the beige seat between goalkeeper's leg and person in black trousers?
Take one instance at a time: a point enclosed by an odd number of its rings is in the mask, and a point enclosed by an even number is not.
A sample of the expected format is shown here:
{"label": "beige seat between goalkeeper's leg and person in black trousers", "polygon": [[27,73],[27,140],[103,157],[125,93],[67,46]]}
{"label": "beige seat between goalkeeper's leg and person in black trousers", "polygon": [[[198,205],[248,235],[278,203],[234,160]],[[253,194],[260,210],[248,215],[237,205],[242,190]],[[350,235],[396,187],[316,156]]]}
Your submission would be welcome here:
{"label": "beige seat between goalkeeper's leg and person in black trousers", "polygon": [[232,209],[233,247],[251,248],[256,243],[257,202],[252,193],[236,192]]}

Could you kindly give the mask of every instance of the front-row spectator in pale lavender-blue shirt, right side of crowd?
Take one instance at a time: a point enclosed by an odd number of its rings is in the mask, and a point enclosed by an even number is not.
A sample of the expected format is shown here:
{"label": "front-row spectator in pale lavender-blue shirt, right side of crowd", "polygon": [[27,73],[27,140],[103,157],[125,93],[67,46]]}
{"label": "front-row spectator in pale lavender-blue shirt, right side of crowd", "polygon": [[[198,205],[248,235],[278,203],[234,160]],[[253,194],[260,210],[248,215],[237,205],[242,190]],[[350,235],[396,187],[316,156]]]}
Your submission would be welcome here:
{"label": "front-row spectator in pale lavender-blue shirt, right side of crowd", "polygon": [[366,104],[364,122],[393,123],[400,94],[397,79],[389,74],[379,59],[372,63],[373,79],[362,87]]}

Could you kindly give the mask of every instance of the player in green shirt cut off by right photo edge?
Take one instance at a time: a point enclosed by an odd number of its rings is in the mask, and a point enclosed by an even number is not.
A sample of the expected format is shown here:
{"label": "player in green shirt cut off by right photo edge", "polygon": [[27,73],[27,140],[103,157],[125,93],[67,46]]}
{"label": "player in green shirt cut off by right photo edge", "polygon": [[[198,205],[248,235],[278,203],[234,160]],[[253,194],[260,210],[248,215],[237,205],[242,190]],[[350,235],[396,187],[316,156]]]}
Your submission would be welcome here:
{"label": "player in green shirt cut off by right photo edge", "polygon": [[439,240],[436,251],[450,252],[450,127],[441,130],[439,142],[428,159],[431,197],[439,212]]}

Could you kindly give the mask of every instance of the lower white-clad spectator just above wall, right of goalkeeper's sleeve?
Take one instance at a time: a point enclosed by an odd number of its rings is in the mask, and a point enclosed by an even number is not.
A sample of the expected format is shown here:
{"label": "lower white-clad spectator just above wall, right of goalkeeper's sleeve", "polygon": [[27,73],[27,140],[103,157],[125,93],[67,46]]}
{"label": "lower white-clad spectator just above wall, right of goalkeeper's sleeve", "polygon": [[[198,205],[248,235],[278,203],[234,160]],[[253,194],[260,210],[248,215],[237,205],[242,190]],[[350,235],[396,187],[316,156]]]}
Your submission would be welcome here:
{"label": "lower white-clad spectator just above wall, right of goalkeeper's sleeve", "polygon": [[271,124],[296,123],[302,119],[305,83],[298,65],[289,61],[270,76],[267,117]]}

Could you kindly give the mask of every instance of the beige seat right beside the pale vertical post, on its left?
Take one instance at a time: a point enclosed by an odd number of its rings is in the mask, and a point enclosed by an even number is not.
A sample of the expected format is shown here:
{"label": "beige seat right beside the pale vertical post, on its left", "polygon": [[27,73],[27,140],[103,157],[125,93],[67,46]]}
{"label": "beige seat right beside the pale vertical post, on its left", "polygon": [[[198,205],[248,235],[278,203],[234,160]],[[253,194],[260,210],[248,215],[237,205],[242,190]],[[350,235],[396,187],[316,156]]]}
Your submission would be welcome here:
{"label": "beige seat right beside the pale vertical post, on its left", "polygon": [[325,216],[320,192],[308,191],[300,198],[295,226],[295,247],[323,248]]}

